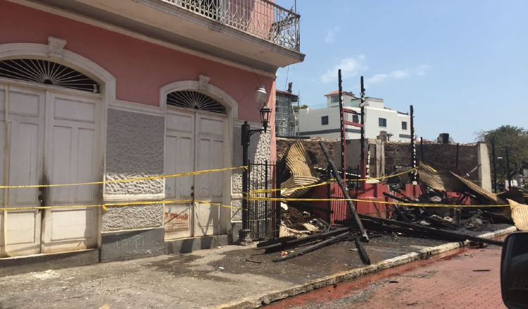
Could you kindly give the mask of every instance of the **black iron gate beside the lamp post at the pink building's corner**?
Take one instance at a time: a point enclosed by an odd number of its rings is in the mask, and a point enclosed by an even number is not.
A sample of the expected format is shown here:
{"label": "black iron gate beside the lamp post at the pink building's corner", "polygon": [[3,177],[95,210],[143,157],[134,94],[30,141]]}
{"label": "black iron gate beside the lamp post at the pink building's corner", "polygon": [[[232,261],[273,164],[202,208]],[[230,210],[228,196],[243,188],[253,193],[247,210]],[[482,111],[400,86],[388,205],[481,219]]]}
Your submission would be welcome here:
{"label": "black iron gate beside the lamp post at the pink building's corner", "polygon": [[[280,197],[280,173],[277,172],[277,163],[266,160],[265,162],[249,162],[248,188],[251,196]],[[254,190],[263,192],[253,193]],[[251,239],[269,239],[279,237],[281,208],[280,202],[265,199],[248,201],[249,229]]]}

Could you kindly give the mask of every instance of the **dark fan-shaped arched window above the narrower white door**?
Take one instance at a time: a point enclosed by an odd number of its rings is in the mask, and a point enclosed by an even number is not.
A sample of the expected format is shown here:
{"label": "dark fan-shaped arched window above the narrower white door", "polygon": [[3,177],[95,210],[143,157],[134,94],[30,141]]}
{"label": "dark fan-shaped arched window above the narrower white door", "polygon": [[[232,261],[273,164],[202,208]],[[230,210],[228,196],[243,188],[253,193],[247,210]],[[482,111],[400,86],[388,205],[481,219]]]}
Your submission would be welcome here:
{"label": "dark fan-shaped arched window above the narrower white door", "polygon": [[184,90],[171,92],[167,95],[167,104],[206,112],[226,113],[224,105],[198,91]]}

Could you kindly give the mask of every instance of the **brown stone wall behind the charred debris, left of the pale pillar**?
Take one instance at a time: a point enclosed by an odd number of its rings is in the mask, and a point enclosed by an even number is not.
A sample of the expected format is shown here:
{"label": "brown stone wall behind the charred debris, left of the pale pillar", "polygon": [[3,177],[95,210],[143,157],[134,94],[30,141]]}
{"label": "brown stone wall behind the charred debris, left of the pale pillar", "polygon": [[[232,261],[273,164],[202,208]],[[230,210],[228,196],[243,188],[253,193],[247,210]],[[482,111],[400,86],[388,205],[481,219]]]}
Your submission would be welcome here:
{"label": "brown stone wall behind the charred debris, left of the pale pillar", "polygon": [[[434,169],[453,171],[461,176],[479,165],[479,144],[460,144],[458,169],[456,169],[456,144],[424,143],[424,162]],[[420,141],[416,144],[417,162],[421,161]],[[385,143],[385,173],[394,171],[394,166],[410,166],[410,143]],[[470,180],[480,180],[477,170],[470,173]]]}

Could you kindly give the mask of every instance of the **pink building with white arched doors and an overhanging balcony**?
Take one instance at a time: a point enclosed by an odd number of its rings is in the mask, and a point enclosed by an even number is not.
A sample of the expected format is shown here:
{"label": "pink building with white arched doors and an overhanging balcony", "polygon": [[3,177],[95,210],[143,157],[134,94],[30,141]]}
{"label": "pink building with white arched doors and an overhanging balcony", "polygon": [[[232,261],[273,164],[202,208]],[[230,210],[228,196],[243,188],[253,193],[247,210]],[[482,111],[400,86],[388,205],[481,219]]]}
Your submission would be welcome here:
{"label": "pink building with white arched doors and an overhanging balcony", "polygon": [[[0,12],[2,185],[240,166],[240,126],[260,126],[255,91],[275,110],[277,68],[304,58],[299,16],[268,0],[0,0]],[[269,128],[252,160],[275,158],[273,114]],[[240,174],[0,190],[0,257],[227,243]],[[121,206],[94,206],[109,203]]]}

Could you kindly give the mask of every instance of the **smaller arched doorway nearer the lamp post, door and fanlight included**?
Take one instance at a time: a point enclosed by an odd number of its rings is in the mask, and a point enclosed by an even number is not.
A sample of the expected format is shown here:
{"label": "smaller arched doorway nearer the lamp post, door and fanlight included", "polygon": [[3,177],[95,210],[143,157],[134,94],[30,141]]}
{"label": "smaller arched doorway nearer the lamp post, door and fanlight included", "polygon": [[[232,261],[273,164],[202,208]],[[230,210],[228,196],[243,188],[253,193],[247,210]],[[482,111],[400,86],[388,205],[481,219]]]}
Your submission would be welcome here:
{"label": "smaller arched doorway nearer the lamp post, door and fanlight included", "polygon": [[[196,83],[196,84],[194,84]],[[235,105],[210,86],[184,81],[165,88],[165,173],[230,167],[231,117]],[[234,102],[234,101],[232,101]],[[165,239],[218,235],[227,232],[230,209],[207,202],[229,204],[231,173],[205,173],[165,179],[165,197],[182,201],[166,204]]]}

